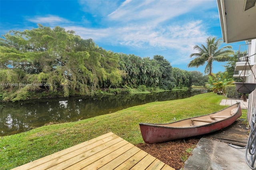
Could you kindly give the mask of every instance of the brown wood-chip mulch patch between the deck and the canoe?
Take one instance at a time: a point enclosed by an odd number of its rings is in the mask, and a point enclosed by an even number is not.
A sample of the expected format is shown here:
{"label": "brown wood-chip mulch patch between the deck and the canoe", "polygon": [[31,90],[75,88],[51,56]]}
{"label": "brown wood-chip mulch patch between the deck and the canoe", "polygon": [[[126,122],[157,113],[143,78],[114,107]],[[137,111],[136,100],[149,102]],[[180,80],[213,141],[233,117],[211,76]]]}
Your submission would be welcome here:
{"label": "brown wood-chip mulch patch between the deck and the canoe", "polygon": [[191,155],[199,140],[200,137],[194,137],[155,144],[139,143],[135,146],[179,170],[183,168],[185,160]]}

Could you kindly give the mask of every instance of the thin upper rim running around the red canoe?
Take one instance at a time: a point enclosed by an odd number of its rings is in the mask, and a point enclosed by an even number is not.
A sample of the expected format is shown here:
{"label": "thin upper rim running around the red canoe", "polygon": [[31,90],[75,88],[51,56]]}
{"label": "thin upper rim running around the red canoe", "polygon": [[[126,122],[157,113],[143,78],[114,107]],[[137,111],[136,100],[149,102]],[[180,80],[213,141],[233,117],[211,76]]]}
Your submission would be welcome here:
{"label": "thin upper rim running around the red canoe", "polygon": [[[207,116],[207,115],[212,115],[212,114],[215,114],[215,113],[218,113],[220,111],[224,111],[224,110],[227,110],[229,109],[230,107],[234,107],[234,105],[238,105],[238,109],[236,111],[236,113],[234,113],[233,115],[230,115],[229,117],[225,118],[225,119],[222,119],[222,120],[219,120],[219,121],[215,121],[215,122],[212,122],[212,123],[206,123],[204,125],[199,125],[199,126],[193,126],[193,127],[171,127],[171,126],[164,126],[164,125],[169,125],[169,124],[172,124],[172,123],[176,123],[176,122],[180,122],[180,121],[185,121],[185,120],[188,120],[188,119],[194,119],[194,118],[198,118],[198,117],[202,117],[202,116]],[[201,115],[201,116],[196,116],[196,117],[190,117],[190,118],[187,118],[187,119],[182,119],[180,121],[175,121],[175,122],[171,122],[171,123],[139,123],[139,125],[144,125],[144,126],[152,126],[152,127],[160,127],[160,128],[175,128],[175,129],[191,129],[191,128],[198,128],[198,127],[205,127],[206,125],[214,125],[214,124],[217,124],[217,123],[220,123],[222,121],[226,121],[228,119],[231,119],[232,117],[235,117],[236,114],[239,112],[239,107],[240,107],[240,102],[234,104],[234,105],[231,105],[229,107],[226,107],[220,111],[216,111],[216,112],[213,112],[213,113],[210,113],[210,114],[207,114],[207,115]]]}

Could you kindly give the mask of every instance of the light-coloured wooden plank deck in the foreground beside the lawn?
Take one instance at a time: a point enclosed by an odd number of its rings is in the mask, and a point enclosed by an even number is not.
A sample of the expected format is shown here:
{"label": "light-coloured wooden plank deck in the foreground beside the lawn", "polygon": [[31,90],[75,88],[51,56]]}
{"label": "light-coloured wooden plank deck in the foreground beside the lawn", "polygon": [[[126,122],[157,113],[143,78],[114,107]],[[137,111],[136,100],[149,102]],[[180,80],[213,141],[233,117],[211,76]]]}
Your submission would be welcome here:
{"label": "light-coloured wooden plank deck in the foreground beside the lawn", "polygon": [[174,170],[109,132],[13,170]]}

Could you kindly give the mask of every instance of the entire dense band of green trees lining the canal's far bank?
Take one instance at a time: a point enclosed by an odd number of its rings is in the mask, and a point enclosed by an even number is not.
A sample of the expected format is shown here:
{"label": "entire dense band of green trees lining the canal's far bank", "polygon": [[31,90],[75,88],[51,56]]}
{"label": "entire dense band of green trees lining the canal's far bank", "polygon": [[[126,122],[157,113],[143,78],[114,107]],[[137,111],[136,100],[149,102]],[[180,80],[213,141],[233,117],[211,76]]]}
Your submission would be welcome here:
{"label": "entire dense band of green trees lining the canal's far bank", "polygon": [[[0,38],[0,100],[41,96],[97,95],[115,88],[191,86],[188,71],[172,68],[163,56],[114,53],[74,31],[38,24]],[[40,96],[40,95],[38,95]]]}

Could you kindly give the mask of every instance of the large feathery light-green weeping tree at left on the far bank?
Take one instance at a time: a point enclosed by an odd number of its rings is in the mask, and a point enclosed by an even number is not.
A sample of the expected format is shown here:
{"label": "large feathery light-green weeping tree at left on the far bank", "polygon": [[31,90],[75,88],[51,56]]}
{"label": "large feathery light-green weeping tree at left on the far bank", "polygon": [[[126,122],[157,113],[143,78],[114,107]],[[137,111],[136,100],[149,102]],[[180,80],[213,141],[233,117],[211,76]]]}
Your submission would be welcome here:
{"label": "large feathery light-green weeping tree at left on the far bank", "polygon": [[38,28],[12,30],[0,38],[0,83],[4,84],[0,89],[12,89],[5,95],[5,100],[12,101],[26,99],[29,91],[93,95],[101,87],[120,85],[118,62],[118,55],[91,39],[83,40],[59,26],[38,24]]}

